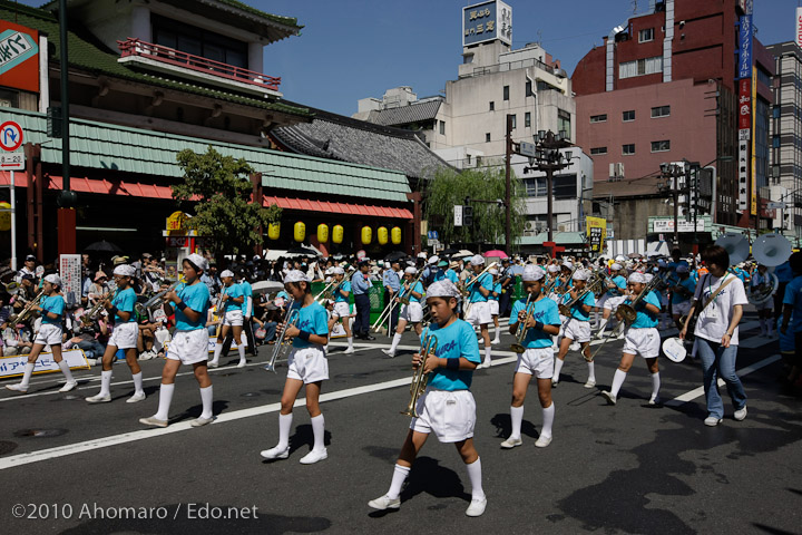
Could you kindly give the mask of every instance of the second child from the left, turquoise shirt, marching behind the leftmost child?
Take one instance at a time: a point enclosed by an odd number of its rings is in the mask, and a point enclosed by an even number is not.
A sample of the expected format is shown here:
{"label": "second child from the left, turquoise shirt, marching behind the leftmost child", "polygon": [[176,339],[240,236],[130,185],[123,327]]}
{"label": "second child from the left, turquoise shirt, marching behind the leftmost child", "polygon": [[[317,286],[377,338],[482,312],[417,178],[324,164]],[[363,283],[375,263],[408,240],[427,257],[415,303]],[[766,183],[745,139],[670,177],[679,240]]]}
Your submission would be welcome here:
{"label": "second child from the left, turquoise shirt, marching behind the leftmost child", "polygon": [[137,361],[139,325],[137,323],[136,312],[134,311],[137,296],[131,288],[131,279],[135,273],[136,270],[134,266],[127,264],[120,264],[114,269],[117,292],[114,299],[106,302],[105,307],[109,314],[114,315],[115,327],[111,331],[111,338],[106,346],[106,351],[102,354],[100,391],[95,396],[86,398],[88,403],[108,403],[111,401],[111,364],[114,363],[118,349],[125,351],[126,363],[128,368],[130,368],[131,379],[134,379],[134,396],[128,398],[126,402],[136,403],[145,399],[141,369]]}

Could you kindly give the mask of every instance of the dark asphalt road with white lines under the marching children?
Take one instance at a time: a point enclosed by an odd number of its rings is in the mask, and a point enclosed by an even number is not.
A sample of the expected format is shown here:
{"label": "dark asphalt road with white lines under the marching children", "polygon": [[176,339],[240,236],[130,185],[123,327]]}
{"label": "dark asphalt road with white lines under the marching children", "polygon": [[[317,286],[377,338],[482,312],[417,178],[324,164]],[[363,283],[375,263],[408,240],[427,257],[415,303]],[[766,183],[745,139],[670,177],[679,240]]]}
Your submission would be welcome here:
{"label": "dark asphalt road with white lines under the marching children", "polygon": [[[212,371],[217,420],[188,422],[200,412],[189,368],[176,380],[170,427],[147,429],[138,418],[158,402],[162,361],[143,362],[148,398],[136,405],[125,363],[115,366],[111,403],[88,406],[99,368],[77,372],[78,390],[58,393],[60,374],[35,377],[30,393],[0,392],[0,525],[4,533],[802,533],[800,399],[776,381],[775,340],[742,331],[739,369],[749,417],[726,416],[707,428],[701,368],[661,359],[661,407],[646,401],[651,381],[637,361],[618,405],[598,391],[612,380],[622,341],[596,359],[598,387],[583,388],[586,366],[569,353],[554,390],[554,441],[535,447],[541,425],[536,390],[524,416],[524,445],[501,450],[509,434],[512,337],[496,346],[496,366],[475,373],[476,446],[488,495],[485,515],[468,518],[469,483],[450,445],[431,438],[417,460],[401,509],[366,503],[388,489],[409,418],[409,354],[404,334],[389,359],[388,339],[358,344],[353,356],[334,342],[324,383],[329,458],[299,464],[312,428],[303,399],[295,408],[287,460],[263,461],[277,440],[285,367],[263,370],[272,348],[244,369],[236,353]],[[747,327],[749,327],[747,325]],[[665,332],[664,334],[669,334]],[[383,342],[383,343],[382,343]],[[227,362],[224,358],[223,362]],[[696,392],[694,392],[696,391]],[[677,399],[678,398],[678,399]],[[216,517],[216,518],[209,518]]]}

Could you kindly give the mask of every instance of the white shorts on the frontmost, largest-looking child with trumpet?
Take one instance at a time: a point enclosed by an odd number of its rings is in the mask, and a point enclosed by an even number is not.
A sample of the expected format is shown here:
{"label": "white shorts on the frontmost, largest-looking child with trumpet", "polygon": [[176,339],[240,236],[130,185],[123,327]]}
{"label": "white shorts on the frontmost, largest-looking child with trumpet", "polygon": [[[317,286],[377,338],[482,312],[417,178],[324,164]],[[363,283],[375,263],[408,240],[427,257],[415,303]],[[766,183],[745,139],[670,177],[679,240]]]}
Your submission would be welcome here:
{"label": "white shorts on the frontmost, largest-looking child with trumpet", "polygon": [[434,431],[441,442],[459,442],[473,436],[476,401],[470,390],[427,388],[415,410],[420,416],[410,422],[413,431]]}

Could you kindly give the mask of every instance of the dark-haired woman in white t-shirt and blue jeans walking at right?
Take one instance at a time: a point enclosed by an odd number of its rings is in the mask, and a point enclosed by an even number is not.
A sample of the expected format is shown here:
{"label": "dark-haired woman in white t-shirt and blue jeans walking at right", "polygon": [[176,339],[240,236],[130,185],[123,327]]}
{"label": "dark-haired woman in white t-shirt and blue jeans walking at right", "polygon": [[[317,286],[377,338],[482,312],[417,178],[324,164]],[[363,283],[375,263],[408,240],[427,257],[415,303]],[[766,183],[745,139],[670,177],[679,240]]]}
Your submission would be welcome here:
{"label": "dark-haired woman in white t-shirt and blue jeans walking at right", "polygon": [[[739,322],[743,317],[743,305],[749,303],[743,282],[727,272],[730,254],[724,247],[711,245],[702,253],[702,261],[710,273],[700,279],[694,294],[693,309],[698,301],[703,303],[696,320],[694,335],[698,356],[704,369],[703,381],[707,401],[705,426],[715,427],[724,417],[724,403],[718,395],[717,377],[726,382],[727,392],[735,408],[734,418],[746,418],[746,392],[735,373],[735,360],[739,347]],[[688,321],[679,332],[687,334]]]}

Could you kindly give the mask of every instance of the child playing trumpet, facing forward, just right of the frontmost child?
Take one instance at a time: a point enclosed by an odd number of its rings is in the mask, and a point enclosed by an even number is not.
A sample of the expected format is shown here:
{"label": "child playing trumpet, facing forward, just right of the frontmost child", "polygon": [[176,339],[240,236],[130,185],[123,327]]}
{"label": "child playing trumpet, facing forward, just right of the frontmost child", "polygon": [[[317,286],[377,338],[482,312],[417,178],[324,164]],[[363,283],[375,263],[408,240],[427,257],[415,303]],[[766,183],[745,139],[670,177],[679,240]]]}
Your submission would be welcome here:
{"label": "child playing trumpet, facing forward, just right of the frontmost child", "polygon": [[[551,401],[551,377],[554,376],[554,351],[551,349],[551,335],[557,334],[560,328],[559,312],[557,304],[542,293],[544,271],[529,264],[524,269],[524,291],[532,294],[531,302],[534,310],[527,319],[526,299],[519,299],[512,305],[510,313],[510,334],[515,335],[519,323],[527,321],[526,337],[522,346],[526,351],[518,356],[515,374],[512,377],[512,403],[510,406],[510,420],[512,432],[509,438],[501,442],[505,449],[515,448],[521,445],[520,428],[524,421],[524,400],[531,377],[537,378],[538,397],[542,407],[544,427],[535,446],[545,448],[551,444],[551,426],[554,425],[555,407]],[[515,321],[515,323],[512,323]]]}

